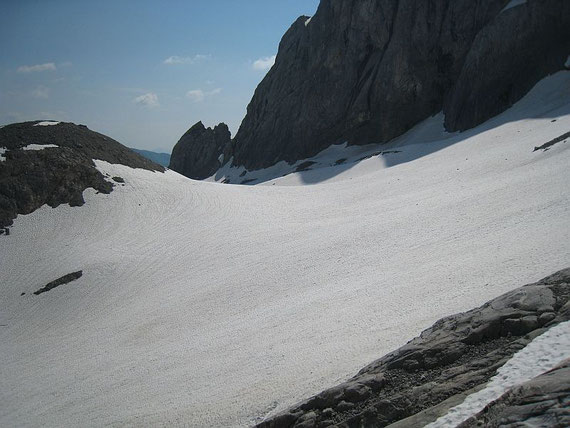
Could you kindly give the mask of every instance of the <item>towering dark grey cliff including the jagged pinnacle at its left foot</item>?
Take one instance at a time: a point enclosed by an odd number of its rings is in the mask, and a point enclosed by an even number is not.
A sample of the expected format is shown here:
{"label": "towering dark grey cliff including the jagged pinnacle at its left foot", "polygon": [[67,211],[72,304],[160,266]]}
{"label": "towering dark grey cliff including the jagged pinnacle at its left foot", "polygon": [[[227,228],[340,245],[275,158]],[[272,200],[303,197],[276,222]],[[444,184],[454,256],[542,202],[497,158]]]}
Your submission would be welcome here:
{"label": "towering dark grey cliff including the jagged pinnacle at its left foot", "polygon": [[283,36],[235,138],[185,134],[171,167],[206,178],[224,154],[265,168],[345,141],[387,142],[442,110],[448,130],[465,130],[569,53],[566,0],[322,0]]}

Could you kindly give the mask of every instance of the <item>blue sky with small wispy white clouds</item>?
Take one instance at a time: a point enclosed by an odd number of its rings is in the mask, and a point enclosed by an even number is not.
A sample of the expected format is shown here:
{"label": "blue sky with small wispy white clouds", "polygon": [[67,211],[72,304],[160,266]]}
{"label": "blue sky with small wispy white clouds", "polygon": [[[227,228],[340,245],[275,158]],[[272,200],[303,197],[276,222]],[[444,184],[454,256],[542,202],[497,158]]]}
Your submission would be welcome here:
{"label": "blue sky with small wispy white clouds", "polygon": [[87,125],[170,152],[201,120],[235,135],[284,32],[318,0],[0,0],[0,125]]}

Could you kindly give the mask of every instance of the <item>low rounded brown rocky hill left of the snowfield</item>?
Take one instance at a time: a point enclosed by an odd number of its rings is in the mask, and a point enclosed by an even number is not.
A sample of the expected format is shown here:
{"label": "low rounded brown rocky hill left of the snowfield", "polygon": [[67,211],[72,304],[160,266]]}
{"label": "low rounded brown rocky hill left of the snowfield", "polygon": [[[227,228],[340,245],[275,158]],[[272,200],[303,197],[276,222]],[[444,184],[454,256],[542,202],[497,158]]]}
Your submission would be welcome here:
{"label": "low rounded brown rocky hill left of the snowfield", "polygon": [[[162,166],[86,126],[38,123],[0,128],[0,227],[11,225],[18,214],[29,214],[44,204],[83,205],[83,191],[88,187],[110,193],[113,184],[97,170],[93,159],[164,171]],[[28,150],[30,144],[36,150]],[[46,148],[37,150],[37,146]]]}

